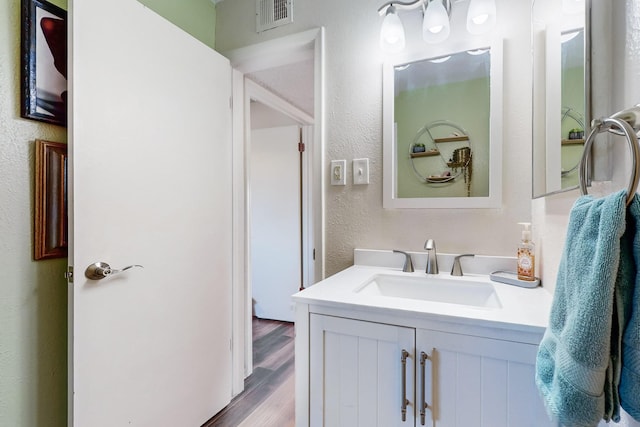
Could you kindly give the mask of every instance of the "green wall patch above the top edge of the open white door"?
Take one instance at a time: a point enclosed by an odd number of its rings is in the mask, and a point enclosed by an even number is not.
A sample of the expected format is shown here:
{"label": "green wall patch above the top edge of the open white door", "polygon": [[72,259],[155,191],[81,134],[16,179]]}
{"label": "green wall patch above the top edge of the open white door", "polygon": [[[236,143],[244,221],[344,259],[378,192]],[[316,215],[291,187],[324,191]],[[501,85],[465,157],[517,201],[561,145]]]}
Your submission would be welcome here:
{"label": "green wall patch above the top edge of the open white door", "polygon": [[211,0],[138,0],[207,46],[216,41],[216,7]]}

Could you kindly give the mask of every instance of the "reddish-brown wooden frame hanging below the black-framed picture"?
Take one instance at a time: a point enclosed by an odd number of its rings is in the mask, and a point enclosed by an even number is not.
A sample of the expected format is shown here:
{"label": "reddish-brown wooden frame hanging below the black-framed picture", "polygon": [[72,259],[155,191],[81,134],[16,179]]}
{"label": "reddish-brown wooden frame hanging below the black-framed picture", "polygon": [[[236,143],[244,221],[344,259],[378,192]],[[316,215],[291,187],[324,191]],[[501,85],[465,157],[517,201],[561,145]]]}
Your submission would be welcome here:
{"label": "reddish-brown wooden frame hanging below the black-framed picture", "polygon": [[36,260],[67,256],[67,144],[36,140]]}

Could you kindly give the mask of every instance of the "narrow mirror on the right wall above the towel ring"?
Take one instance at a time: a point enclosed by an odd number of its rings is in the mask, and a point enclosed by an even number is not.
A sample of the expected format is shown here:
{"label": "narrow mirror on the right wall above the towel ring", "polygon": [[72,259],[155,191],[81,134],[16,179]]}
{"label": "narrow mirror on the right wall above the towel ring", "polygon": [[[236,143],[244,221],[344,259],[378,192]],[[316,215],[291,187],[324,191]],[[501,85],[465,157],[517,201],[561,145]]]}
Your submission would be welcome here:
{"label": "narrow mirror on the right wall above the towel ring", "polygon": [[575,189],[590,111],[584,0],[534,0],[533,197]]}

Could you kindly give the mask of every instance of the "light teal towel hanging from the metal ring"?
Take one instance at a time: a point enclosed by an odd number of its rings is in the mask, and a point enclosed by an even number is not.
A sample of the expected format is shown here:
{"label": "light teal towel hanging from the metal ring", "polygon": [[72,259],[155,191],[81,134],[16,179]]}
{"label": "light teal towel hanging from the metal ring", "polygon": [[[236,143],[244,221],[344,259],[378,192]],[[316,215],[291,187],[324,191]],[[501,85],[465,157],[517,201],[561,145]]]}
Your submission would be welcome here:
{"label": "light teal towel hanging from the metal ring", "polygon": [[620,308],[614,289],[628,280],[618,277],[627,273],[619,270],[625,203],[625,191],[601,199],[582,196],[569,215],[549,327],[536,359],[536,384],[561,425],[619,418],[620,360],[612,355],[611,334]]}

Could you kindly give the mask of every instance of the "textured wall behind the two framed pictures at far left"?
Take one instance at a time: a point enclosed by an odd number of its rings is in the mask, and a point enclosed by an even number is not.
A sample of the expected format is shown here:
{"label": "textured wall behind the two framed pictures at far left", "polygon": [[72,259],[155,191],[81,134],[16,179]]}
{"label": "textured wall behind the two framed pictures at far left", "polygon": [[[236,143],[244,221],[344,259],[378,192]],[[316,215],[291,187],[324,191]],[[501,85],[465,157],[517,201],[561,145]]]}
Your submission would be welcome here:
{"label": "textured wall behind the two framed pictures at far left", "polygon": [[67,263],[33,261],[33,196],[34,140],[66,129],[20,118],[20,31],[20,1],[0,0],[0,425],[61,426]]}

